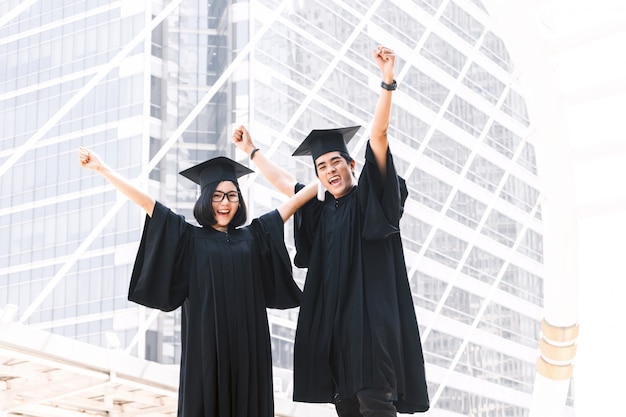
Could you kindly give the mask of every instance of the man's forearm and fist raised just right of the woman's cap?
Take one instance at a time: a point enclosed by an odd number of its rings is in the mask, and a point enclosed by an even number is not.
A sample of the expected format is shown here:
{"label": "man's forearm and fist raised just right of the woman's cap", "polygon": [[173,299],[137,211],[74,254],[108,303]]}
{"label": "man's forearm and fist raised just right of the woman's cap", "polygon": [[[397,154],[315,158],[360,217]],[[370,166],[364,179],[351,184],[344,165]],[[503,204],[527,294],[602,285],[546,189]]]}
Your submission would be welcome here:
{"label": "man's forearm and fist raised just right of the woman's cap", "polygon": [[[261,171],[261,174],[266,180],[270,182],[278,191],[291,197],[294,195],[296,179],[287,170],[280,167],[278,164],[270,161],[263,151],[258,149],[252,141],[250,132],[243,126],[239,126],[233,132],[233,143],[237,148],[241,149],[246,155],[251,156],[256,167]],[[254,155],[251,155],[254,151]]]}

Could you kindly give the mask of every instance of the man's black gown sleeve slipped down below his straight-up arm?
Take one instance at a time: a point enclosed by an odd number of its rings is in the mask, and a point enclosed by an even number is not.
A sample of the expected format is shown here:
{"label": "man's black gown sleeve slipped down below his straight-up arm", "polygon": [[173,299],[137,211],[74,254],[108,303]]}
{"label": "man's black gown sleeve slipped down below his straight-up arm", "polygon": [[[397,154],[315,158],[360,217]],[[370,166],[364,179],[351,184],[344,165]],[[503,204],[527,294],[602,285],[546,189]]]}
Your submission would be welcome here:
{"label": "man's black gown sleeve slipped down below his straight-up arm", "polygon": [[359,203],[364,213],[363,238],[384,239],[398,233],[408,195],[406,182],[396,173],[389,148],[387,148],[387,175],[383,178],[368,142],[365,166],[359,177]]}

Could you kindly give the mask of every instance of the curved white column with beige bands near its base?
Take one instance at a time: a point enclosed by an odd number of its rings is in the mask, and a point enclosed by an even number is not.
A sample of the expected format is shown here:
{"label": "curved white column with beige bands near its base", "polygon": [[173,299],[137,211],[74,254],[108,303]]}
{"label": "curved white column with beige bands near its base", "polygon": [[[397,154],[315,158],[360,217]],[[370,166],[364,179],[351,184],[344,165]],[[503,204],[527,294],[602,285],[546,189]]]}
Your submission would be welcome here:
{"label": "curved white column with beige bands near its base", "polygon": [[541,1],[486,0],[494,32],[519,71],[535,146],[543,202],[544,317],[530,417],[561,417],[578,337],[578,234],[567,120],[553,51],[532,8]]}

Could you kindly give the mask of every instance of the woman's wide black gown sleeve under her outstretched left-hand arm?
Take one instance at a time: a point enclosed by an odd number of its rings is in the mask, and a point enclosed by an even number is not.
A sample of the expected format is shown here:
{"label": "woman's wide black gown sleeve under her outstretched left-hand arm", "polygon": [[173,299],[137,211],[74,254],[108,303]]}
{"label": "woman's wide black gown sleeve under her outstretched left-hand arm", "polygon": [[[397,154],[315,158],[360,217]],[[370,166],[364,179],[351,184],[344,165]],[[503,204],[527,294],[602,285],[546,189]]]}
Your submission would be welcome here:
{"label": "woman's wide black gown sleeve under her outstretched left-hand arm", "polygon": [[187,298],[193,259],[191,225],[158,201],[146,216],[133,266],[128,299],[172,311]]}

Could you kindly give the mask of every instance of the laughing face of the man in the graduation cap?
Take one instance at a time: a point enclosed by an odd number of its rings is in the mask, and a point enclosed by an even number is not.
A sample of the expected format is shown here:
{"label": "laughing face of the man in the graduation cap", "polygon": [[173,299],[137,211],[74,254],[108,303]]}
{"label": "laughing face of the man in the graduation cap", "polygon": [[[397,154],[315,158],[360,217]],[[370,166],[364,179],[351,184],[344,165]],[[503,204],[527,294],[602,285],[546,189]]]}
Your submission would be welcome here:
{"label": "laughing face of the man in the graduation cap", "polygon": [[354,187],[354,166],[341,156],[338,151],[327,152],[315,160],[317,177],[322,185],[335,198],[343,197]]}

